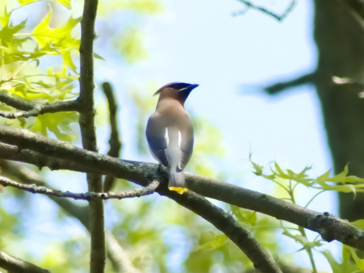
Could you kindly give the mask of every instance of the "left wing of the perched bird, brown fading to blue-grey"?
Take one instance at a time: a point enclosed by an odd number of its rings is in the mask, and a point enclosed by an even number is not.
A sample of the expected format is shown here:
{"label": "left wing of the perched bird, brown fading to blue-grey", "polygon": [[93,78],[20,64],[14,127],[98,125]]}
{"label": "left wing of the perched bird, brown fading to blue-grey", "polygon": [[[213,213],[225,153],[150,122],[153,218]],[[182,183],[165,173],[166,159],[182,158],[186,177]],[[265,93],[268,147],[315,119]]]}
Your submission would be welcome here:
{"label": "left wing of the perched bird, brown fading to blue-grey", "polygon": [[148,120],[146,136],[151,154],[163,165],[169,167],[170,163],[166,154],[166,127],[163,126],[156,113],[152,114]]}

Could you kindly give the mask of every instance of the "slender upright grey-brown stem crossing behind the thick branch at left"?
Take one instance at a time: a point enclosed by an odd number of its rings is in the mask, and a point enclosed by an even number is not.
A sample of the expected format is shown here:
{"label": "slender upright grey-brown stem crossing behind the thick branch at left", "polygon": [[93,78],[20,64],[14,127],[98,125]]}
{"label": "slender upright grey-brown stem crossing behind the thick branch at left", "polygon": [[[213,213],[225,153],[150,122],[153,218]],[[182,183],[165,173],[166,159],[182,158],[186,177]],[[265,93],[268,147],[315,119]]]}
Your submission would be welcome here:
{"label": "slender upright grey-brown stem crossing behind the thick branch at left", "polygon": [[[81,20],[80,42],[80,96],[85,111],[80,112],[79,124],[82,146],[84,149],[97,152],[94,99],[94,38],[95,19],[98,0],[85,0]],[[99,174],[87,173],[89,192],[102,192],[102,177]],[[91,234],[91,273],[103,273],[105,269],[106,246],[104,227],[103,200],[91,200],[88,204],[90,214],[89,230]]]}

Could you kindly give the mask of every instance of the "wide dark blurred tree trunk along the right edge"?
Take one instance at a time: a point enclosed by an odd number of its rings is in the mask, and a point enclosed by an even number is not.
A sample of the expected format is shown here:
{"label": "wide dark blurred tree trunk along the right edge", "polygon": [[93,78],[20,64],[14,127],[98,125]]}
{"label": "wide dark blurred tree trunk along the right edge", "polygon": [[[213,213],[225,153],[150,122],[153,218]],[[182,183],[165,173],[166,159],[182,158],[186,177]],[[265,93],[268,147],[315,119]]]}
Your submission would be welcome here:
{"label": "wide dark blurred tree trunk along the right edge", "polygon": [[[348,162],[349,174],[364,177],[364,99],[359,84],[337,85],[332,76],[364,78],[363,20],[345,1],[315,0],[314,39],[318,64],[314,82],[321,101],[335,173]],[[339,193],[339,213],[364,218],[364,194]]]}

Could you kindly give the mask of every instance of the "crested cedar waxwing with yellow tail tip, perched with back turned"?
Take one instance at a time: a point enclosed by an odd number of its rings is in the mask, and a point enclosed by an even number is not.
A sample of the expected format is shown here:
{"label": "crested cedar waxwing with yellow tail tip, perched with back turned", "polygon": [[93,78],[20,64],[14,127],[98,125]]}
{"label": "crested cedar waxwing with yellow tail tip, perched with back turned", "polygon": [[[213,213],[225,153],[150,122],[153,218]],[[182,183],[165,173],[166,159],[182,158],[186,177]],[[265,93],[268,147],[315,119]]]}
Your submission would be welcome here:
{"label": "crested cedar waxwing with yellow tail tip, perched with back turned", "polygon": [[[157,108],[150,116],[146,136],[151,154],[168,168],[168,188],[187,191],[185,169],[192,155],[193,124],[185,101],[198,84],[170,83],[159,88]],[[153,95],[153,96],[154,96]]]}

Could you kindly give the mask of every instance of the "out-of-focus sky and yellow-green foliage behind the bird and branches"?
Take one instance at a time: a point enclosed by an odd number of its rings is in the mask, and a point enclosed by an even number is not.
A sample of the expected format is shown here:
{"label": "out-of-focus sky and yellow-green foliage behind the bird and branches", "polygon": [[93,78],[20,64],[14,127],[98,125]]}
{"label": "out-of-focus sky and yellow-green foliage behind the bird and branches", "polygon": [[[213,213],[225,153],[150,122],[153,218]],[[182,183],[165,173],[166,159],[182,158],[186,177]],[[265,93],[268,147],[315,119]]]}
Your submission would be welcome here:
{"label": "out-of-focus sky and yellow-green foliage behind the bird and branches", "polygon": [[[254,4],[282,14],[291,2]],[[16,6],[11,1],[5,4]],[[49,5],[53,9],[50,26],[59,27],[70,16],[80,16],[83,3],[72,1],[69,11],[57,2],[41,1],[14,12],[12,20],[28,18],[32,29],[48,13]],[[182,81],[200,85],[185,103],[196,130],[187,172],[278,197],[283,193],[276,184],[252,173],[250,153],[254,162],[268,170],[276,161],[295,172],[312,165],[312,177],[323,174],[332,162],[315,85],[308,81],[276,94],[265,90],[316,71],[319,58],[313,28],[313,1],[297,1],[281,22],[236,0],[100,1],[95,52],[106,60],[95,61],[100,153],[107,153],[109,137],[107,102],[100,90],[104,81],[112,84],[120,104],[121,158],[147,162],[155,162],[144,135],[157,103],[152,95],[166,83]],[[74,35],[79,37],[79,25]],[[41,66],[47,68],[53,60],[45,58]],[[78,130],[76,125],[72,128]],[[79,138],[74,142],[79,145]],[[40,174],[59,189],[87,191],[84,174],[59,171],[55,175],[48,170]],[[132,187],[118,181],[115,190]],[[303,206],[317,193],[303,186],[298,189],[296,201]],[[87,272],[88,234],[78,220],[41,195],[7,191],[0,195],[0,202],[4,251],[31,258],[52,272]],[[324,192],[309,208],[338,215],[337,203],[335,193]],[[278,225],[265,216],[258,219],[261,225]],[[156,194],[107,201],[106,226],[144,272],[242,272],[252,267],[236,246],[218,240],[219,232],[212,225]],[[301,245],[282,235],[282,230],[254,229],[254,234],[274,257],[310,267],[307,254],[299,251]],[[340,257],[337,242],[319,249],[330,249],[335,258]],[[318,269],[330,269],[320,252],[314,252],[314,259]]]}

